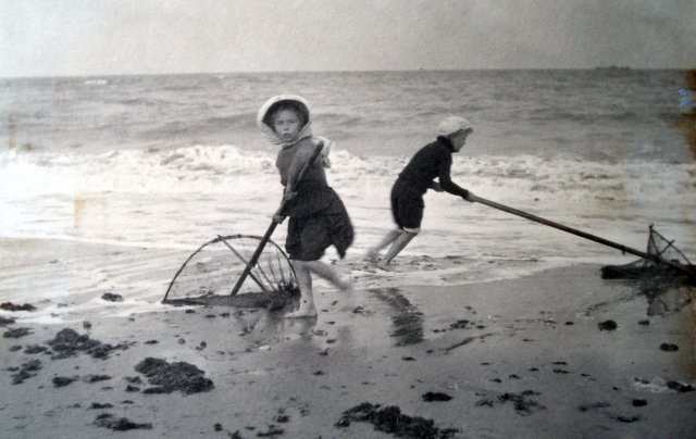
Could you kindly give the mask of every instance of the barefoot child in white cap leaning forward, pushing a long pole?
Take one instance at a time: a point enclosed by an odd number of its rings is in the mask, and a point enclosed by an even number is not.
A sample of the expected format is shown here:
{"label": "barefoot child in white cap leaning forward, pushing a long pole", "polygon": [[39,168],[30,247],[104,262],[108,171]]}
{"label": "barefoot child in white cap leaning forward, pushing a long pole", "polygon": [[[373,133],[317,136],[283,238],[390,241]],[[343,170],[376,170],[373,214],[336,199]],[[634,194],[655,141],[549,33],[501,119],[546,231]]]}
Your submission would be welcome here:
{"label": "barefoot child in white cap leaning forward, pushing a long pole", "polygon": [[[445,117],[437,126],[437,139],[421,148],[399,174],[391,188],[391,214],[397,228],[385,236],[380,243],[368,251],[366,259],[377,262],[377,266],[391,271],[391,260],[421,230],[423,220],[423,195],[427,189],[449,192],[473,202],[473,193],[457,186],[450,178],[452,153],[459,152],[473,131],[469,121],[459,116]],[[438,181],[435,181],[435,178]],[[377,254],[391,244],[387,253],[378,260]]]}

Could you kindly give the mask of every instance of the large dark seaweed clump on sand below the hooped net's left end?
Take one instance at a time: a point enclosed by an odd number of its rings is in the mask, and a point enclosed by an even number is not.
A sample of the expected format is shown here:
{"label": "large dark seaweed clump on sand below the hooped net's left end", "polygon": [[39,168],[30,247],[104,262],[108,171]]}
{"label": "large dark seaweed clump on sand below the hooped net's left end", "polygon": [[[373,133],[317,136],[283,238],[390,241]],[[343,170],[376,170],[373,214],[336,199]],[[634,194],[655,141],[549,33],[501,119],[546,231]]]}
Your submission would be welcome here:
{"label": "large dark seaweed clump on sand below the hooped net's left end", "polygon": [[161,359],[148,356],[135,366],[135,369],[148,377],[151,387],[144,393],[171,393],[181,390],[186,394],[204,392],[213,388],[213,381],[203,377],[204,372],[186,362],[167,363]]}

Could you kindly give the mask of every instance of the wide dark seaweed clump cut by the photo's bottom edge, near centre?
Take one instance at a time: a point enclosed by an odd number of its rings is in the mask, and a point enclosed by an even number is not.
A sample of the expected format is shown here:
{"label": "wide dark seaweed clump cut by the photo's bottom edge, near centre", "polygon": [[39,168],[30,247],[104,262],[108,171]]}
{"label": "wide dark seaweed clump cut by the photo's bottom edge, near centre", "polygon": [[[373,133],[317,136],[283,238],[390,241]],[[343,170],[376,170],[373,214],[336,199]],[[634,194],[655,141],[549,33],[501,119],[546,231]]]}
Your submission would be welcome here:
{"label": "wide dark seaweed clump cut by the photo's bottom edge, near centre", "polygon": [[351,422],[371,423],[375,430],[384,431],[398,437],[445,439],[451,438],[457,432],[456,428],[440,429],[435,426],[433,419],[420,416],[408,416],[395,405],[380,409],[380,404],[363,402],[344,412],[343,417],[335,424],[336,427],[348,427]]}

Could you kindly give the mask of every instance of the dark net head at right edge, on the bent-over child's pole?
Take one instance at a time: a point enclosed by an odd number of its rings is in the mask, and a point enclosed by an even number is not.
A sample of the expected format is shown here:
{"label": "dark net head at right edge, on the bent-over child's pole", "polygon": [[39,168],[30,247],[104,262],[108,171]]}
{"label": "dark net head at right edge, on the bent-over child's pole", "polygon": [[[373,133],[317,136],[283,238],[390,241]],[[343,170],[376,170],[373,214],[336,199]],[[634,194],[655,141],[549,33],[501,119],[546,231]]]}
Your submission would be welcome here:
{"label": "dark net head at right edge, on the bent-over child's pole", "polygon": [[606,265],[601,268],[605,279],[643,279],[663,285],[696,285],[696,267],[684,253],[650,225],[647,254],[655,260],[641,259],[624,265]]}

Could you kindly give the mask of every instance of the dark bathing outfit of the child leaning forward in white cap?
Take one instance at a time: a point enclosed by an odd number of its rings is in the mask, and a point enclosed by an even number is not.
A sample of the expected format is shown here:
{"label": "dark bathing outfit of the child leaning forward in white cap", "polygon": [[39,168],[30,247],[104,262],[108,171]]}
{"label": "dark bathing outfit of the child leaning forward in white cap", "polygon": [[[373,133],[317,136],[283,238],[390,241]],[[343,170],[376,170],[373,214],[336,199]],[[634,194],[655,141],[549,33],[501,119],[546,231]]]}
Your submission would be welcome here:
{"label": "dark bathing outfit of the child leaning forward in white cap", "polygon": [[456,185],[450,177],[453,147],[448,138],[437,140],[421,148],[399,174],[391,188],[391,214],[402,229],[419,229],[423,221],[423,195],[433,188],[438,178],[446,192],[467,197],[469,191]]}

